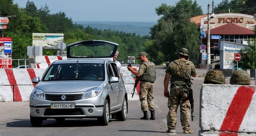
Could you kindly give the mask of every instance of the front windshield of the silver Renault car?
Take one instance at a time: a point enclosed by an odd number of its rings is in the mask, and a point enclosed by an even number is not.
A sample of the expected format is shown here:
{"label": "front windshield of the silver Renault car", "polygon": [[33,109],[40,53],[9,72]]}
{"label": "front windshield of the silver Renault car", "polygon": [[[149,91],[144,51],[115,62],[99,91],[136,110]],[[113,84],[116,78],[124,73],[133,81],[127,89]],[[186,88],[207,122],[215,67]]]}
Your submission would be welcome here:
{"label": "front windshield of the silver Renault car", "polygon": [[58,80],[104,80],[103,64],[55,64],[48,68],[43,81]]}

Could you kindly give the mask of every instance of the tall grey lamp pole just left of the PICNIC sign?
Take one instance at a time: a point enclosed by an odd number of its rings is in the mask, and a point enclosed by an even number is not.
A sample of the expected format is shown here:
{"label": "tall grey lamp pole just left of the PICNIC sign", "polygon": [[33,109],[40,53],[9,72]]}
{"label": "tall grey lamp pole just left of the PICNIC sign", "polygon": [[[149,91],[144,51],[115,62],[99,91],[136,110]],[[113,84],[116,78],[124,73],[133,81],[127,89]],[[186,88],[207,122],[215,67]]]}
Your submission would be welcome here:
{"label": "tall grey lamp pole just left of the PICNIC sign", "polygon": [[208,26],[207,26],[207,72],[210,71],[210,65],[211,65],[211,48],[210,48],[210,20],[214,17],[214,13],[211,15],[210,12],[210,4],[208,4]]}

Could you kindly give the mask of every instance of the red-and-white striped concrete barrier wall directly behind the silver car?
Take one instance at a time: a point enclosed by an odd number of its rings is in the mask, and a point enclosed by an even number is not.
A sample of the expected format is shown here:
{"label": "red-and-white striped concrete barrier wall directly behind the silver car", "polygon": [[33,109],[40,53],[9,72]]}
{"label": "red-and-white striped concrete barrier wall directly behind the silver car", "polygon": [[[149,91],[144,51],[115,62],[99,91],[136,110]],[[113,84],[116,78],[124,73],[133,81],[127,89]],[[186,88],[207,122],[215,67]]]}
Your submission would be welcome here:
{"label": "red-and-white striped concrete barrier wall directly behind the silver car", "polygon": [[[29,101],[29,96],[35,87],[32,79],[34,77],[41,79],[45,70],[46,68],[0,68],[0,102]],[[134,78],[131,77],[131,72],[126,67],[123,67],[123,71],[128,100],[139,99],[137,89],[134,97],[131,98],[135,83]]]}

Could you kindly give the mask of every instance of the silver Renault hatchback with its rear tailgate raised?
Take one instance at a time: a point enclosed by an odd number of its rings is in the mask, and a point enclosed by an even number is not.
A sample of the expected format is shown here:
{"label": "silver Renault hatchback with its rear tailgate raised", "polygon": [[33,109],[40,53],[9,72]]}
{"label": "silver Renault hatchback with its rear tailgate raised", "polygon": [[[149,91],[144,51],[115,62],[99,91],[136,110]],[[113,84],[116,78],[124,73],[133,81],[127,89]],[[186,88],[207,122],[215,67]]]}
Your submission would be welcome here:
{"label": "silver Renault hatchback with its rear tailgate raised", "polygon": [[[118,44],[85,40],[67,46],[67,60],[53,62],[37,83],[29,99],[30,122],[43,120],[96,118],[108,125],[110,115],[125,121],[127,92],[119,68],[113,62]],[[112,54],[111,51],[113,52]]]}

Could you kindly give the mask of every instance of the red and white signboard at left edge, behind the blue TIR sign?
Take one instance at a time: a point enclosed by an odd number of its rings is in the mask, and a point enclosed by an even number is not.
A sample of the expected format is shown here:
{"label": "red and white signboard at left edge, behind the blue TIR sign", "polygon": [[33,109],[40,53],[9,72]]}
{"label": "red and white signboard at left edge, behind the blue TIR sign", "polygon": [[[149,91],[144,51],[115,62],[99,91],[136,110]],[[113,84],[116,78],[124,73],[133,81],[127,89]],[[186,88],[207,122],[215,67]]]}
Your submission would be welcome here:
{"label": "red and white signboard at left edge, behind the blue TIR sign", "polygon": [[7,68],[7,62],[8,68],[12,68],[12,54],[3,53],[3,42],[12,42],[12,37],[0,37],[0,68]]}

